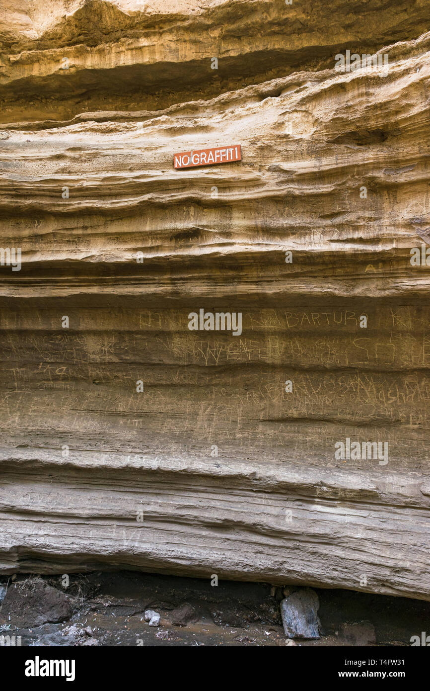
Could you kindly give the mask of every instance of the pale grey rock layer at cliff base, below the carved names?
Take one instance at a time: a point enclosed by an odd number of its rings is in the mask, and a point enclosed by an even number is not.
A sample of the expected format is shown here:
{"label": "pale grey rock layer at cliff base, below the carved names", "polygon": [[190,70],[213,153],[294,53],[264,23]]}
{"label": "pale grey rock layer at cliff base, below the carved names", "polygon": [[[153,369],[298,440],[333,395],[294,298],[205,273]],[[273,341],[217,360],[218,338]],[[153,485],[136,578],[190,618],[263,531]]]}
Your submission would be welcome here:
{"label": "pale grey rock layer at cliff base, below the carved names", "polygon": [[0,458],[4,573],[114,564],[428,599],[419,473],[75,450],[69,462],[41,450]]}

